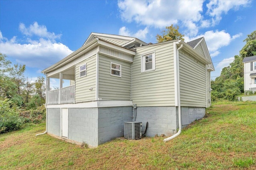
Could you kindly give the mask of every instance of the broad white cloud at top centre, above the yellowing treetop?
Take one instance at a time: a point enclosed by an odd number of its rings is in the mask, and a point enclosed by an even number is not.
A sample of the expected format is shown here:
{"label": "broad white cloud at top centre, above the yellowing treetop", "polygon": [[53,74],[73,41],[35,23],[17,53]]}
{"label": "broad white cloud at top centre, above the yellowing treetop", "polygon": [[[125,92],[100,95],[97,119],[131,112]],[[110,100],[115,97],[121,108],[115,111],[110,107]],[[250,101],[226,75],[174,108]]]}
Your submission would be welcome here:
{"label": "broad white cloud at top centre, above the yellowing treetop", "polygon": [[[199,21],[203,1],[132,1],[118,2],[124,21],[162,28],[181,21]],[[186,14],[184,14],[186,11]]]}

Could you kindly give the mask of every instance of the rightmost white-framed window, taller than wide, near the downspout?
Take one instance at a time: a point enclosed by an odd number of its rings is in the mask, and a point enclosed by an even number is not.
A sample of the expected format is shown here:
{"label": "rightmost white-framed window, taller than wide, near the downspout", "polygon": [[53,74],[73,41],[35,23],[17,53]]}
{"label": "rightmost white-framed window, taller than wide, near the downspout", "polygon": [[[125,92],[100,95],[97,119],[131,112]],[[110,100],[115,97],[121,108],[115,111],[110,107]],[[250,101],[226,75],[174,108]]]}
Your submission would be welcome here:
{"label": "rightmost white-framed window, taller than wide, near the downspout", "polygon": [[155,53],[141,56],[141,72],[155,70]]}

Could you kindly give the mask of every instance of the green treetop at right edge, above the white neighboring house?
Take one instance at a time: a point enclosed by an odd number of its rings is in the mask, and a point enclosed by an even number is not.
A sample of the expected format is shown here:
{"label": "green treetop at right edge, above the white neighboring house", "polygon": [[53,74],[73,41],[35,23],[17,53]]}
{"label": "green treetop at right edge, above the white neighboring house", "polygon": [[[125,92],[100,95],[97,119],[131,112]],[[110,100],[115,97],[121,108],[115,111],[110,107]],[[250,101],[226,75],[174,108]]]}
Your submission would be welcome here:
{"label": "green treetop at right edge, above the white neighboring house", "polygon": [[256,30],[247,35],[244,41],[246,41],[246,45],[240,51],[240,56],[244,58],[256,55]]}

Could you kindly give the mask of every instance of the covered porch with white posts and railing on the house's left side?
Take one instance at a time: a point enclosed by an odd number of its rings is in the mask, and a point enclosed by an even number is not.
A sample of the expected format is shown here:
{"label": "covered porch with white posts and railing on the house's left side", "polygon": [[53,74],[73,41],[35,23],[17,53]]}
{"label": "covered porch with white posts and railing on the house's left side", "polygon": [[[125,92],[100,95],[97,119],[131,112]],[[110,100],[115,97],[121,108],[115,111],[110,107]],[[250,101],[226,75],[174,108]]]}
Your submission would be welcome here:
{"label": "covered porch with white posts and railing on the house's left side", "polygon": [[[52,75],[46,75],[46,104],[73,104],[75,103],[75,66]],[[52,88],[50,79],[58,79],[58,87]],[[63,87],[64,80],[69,86]],[[67,84],[67,82],[65,83]]]}

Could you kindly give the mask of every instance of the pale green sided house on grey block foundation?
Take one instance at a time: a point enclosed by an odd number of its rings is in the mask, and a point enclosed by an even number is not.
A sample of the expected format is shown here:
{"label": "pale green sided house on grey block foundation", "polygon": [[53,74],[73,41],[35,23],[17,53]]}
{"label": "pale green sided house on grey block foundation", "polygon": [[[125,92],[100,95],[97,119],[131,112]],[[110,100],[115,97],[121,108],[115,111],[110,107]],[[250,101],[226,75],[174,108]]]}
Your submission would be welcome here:
{"label": "pale green sided house on grey block foundation", "polygon": [[[46,131],[98,146],[124,136],[125,121],[142,121],[146,136],[170,136],[205,115],[214,70],[204,38],[150,44],[91,33],[84,45],[42,72],[46,75]],[[50,78],[60,89],[50,90]],[[70,80],[62,88],[62,80]],[[180,99],[180,101],[179,101]]]}

